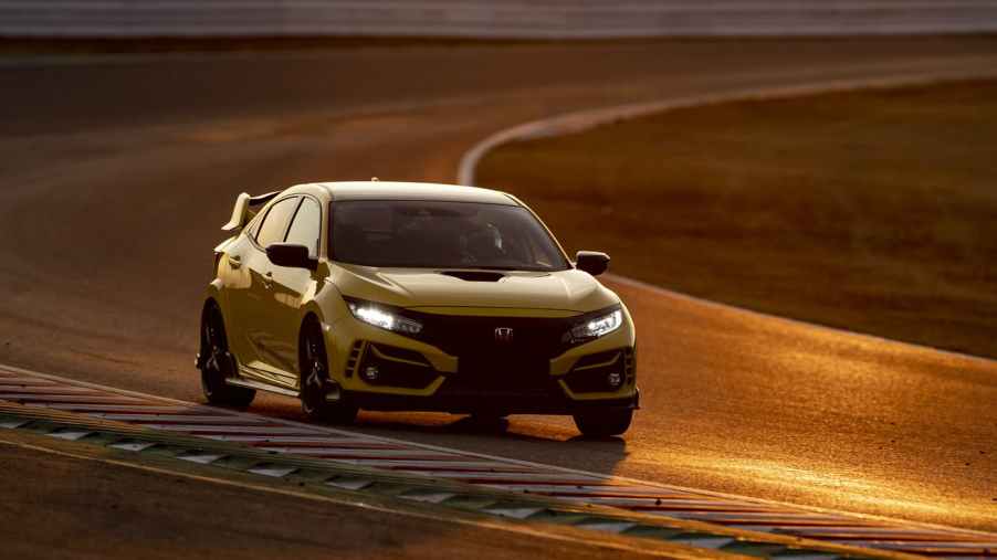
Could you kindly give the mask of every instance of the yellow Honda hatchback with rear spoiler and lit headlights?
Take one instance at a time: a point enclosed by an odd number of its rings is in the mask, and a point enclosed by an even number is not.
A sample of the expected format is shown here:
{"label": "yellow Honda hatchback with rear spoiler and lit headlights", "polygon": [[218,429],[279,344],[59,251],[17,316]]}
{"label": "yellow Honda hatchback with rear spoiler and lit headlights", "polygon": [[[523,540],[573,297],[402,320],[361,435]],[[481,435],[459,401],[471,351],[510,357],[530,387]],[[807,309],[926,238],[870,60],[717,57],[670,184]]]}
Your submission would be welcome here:
{"label": "yellow Honda hatchback with rear spoiler and lit headlights", "polygon": [[197,359],[211,403],[264,390],[334,422],[367,409],[570,414],[591,436],[630,426],[633,323],[594,278],[609,256],[570,262],[511,194],[298,184],[240,194],[222,229]]}

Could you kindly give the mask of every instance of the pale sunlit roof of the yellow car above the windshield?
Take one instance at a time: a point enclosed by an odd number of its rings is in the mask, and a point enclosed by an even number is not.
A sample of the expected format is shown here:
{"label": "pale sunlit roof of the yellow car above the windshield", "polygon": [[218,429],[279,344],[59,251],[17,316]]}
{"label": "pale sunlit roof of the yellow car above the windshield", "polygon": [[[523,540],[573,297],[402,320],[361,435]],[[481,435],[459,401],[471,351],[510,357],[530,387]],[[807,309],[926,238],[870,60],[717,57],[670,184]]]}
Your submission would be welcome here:
{"label": "pale sunlit roof of the yellow car above the windshield", "polygon": [[440,200],[520,205],[513,197],[491,189],[428,182],[338,181],[315,183],[333,200]]}

